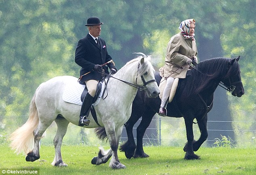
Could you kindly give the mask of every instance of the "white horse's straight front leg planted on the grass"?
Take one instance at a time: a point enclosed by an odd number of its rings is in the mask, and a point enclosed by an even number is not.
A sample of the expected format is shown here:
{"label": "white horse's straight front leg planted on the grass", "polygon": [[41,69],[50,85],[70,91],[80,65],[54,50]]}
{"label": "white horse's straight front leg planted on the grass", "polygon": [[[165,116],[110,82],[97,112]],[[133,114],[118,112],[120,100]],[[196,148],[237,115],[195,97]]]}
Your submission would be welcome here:
{"label": "white horse's straight front leg planted on the grass", "polygon": [[123,130],[123,126],[116,128],[115,131],[114,130],[107,130],[107,136],[109,138],[109,144],[110,144],[110,148],[112,150],[112,158],[110,160],[109,163],[109,167],[113,168],[113,169],[121,169],[121,168],[126,168],[125,165],[123,165],[122,163],[120,163],[119,159],[118,159],[118,145],[119,145],[119,139],[120,136],[122,134],[122,130]]}

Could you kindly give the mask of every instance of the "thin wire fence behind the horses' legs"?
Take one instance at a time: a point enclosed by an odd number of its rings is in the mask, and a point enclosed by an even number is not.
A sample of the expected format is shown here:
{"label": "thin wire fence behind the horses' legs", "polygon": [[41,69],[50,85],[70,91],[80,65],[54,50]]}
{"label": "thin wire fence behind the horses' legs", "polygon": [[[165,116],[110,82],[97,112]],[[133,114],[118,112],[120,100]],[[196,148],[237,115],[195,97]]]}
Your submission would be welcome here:
{"label": "thin wire fence behind the horses' legs", "polygon": [[[9,120],[7,121],[7,119]],[[28,116],[0,116],[0,143],[2,140],[8,140],[10,133],[20,127]],[[19,122],[15,122],[19,121]],[[23,123],[22,123],[23,121]],[[134,140],[136,142],[137,128],[141,119],[133,127]],[[231,128],[227,127],[231,124]],[[239,126],[242,125],[243,127]],[[214,127],[215,126],[215,127]],[[237,127],[239,126],[239,127]],[[253,127],[248,127],[253,126]],[[256,121],[208,121],[208,139],[203,146],[213,146],[214,143],[227,138],[231,144],[237,146],[256,146]],[[42,140],[43,144],[52,144],[57,126],[55,122],[46,130],[46,137]],[[139,132],[139,131],[138,131]],[[200,130],[193,125],[195,140],[200,136]],[[124,127],[120,141],[126,142],[127,134]],[[225,141],[225,140],[224,140]],[[159,117],[155,115],[151,124],[147,128],[143,137],[144,145],[163,145],[163,146],[183,146],[187,142],[185,122],[183,118]],[[94,134],[94,129],[81,128],[69,124],[67,134],[63,139],[63,144],[86,144],[97,145],[99,140]]]}

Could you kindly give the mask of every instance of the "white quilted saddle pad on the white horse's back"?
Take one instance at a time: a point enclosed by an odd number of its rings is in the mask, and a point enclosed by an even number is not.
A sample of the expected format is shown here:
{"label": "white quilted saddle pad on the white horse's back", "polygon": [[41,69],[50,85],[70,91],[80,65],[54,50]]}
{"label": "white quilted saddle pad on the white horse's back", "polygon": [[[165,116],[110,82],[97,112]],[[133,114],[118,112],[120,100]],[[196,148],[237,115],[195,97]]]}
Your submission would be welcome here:
{"label": "white quilted saddle pad on the white horse's back", "polygon": [[[84,87],[85,85],[80,84],[79,82],[76,82],[76,83],[70,82],[64,89],[62,99],[67,103],[73,103],[73,104],[82,106],[81,95],[82,95],[82,92],[84,91]],[[99,104],[99,102],[101,101],[101,96],[103,95],[104,88],[105,88],[105,83],[102,83],[101,93],[99,95],[99,98],[92,105],[97,106]]]}

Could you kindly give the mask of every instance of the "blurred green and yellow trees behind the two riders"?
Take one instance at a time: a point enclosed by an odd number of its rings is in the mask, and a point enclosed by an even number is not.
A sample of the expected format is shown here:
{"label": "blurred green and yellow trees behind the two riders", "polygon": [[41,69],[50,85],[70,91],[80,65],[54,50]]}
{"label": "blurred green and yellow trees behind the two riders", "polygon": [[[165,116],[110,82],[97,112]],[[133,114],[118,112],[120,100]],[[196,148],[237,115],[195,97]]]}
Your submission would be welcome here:
{"label": "blurred green and yellow trees behind the two riders", "polygon": [[[88,17],[98,16],[101,36],[118,68],[133,52],[153,56],[158,70],[166,45],[185,19],[196,21],[198,58],[241,56],[245,95],[233,97],[217,89],[209,120],[256,120],[255,0],[0,0],[0,126],[21,126],[40,83],[61,75],[79,76],[74,62],[77,42],[88,30]],[[80,127],[77,127],[80,130]],[[220,134],[233,140],[252,138],[255,122],[208,124],[209,140]],[[1,129],[1,128],[0,128]],[[235,130],[211,132],[213,129]],[[1,130],[0,130],[1,131]],[[0,133],[1,134],[1,133]]]}

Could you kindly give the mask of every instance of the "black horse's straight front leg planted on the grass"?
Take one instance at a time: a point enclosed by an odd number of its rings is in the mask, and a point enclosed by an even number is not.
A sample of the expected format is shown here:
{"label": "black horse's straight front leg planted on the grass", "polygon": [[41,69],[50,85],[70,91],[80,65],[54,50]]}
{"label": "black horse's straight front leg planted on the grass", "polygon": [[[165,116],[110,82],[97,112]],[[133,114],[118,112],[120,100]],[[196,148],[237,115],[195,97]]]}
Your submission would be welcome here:
{"label": "black horse's straight front leg planted on the grass", "polygon": [[191,160],[191,159],[199,159],[193,151],[193,142],[194,142],[194,134],[193,134],[193,119],[184,117],[185,125],[187,130],[187,144],[183,148],[186,152],[184,159]]}

